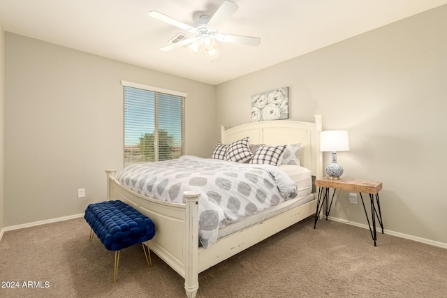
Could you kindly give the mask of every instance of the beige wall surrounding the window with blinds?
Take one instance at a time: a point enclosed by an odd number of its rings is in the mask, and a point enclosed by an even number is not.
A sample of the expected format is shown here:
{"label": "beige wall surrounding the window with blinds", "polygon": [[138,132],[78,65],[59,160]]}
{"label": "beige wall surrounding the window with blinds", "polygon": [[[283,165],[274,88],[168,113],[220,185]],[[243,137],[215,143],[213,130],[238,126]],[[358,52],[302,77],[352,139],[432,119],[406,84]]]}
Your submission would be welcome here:
{"label": "beige wall surrounding the window with blinds", "polygon": [[211,154],[214,86],[13,33],[5,40],[6,226],[105,200],[104,170],[123,165],[121,80],[185,92],[187,154]]}

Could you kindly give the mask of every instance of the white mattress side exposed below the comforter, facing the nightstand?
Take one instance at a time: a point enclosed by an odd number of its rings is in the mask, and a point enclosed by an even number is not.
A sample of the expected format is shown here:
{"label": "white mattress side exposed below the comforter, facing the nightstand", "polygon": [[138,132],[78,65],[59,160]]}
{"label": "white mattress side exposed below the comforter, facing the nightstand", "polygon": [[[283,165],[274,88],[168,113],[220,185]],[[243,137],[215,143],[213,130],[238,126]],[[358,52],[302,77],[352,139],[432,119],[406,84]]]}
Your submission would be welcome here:
{"label": "white mattress side exposed below the comforter, facing the nightstand", "polygon": [[281,165],[280,168],[295,181],[295,184],[298,186],[298,195],[291,200],[281,202],[281,204],[265,209],[253,216],[228,223],[228,225],[219,229],[218,239],[315,200],[312,193],[312,173],[309,169],[297,165]]}

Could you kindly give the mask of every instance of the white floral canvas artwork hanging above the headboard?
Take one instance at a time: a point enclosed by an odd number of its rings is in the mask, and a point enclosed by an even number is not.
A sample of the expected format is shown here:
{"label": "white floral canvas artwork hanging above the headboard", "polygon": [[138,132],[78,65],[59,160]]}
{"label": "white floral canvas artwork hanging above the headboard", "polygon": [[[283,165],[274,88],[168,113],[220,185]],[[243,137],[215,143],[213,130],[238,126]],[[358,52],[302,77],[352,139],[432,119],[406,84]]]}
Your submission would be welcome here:
{"label": "white floral canvas artwork hanging above the headboard", "polygon": [[251,96],[251,121],[288,119],[288,87]]}

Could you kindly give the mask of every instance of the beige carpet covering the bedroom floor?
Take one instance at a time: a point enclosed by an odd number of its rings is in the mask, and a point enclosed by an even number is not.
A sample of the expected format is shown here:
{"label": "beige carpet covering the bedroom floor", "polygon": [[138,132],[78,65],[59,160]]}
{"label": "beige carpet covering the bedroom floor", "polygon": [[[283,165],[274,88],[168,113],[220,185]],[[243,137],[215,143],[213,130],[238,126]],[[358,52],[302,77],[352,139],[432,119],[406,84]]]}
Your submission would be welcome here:
{"label": "beige carpet covering the bedroom floor", "polygon": [[[386,223],[385,223],[386,224]],[[293,225],[199,275],[202,297],[447,297],[447,250],[313,218]],[[0,297],[185,297],[184,280],[141,246],[114,252],[83,218],[5,232]],[[25,288],[25,285],[38,288]],[[47,288],[45,288],[47,286]]]}

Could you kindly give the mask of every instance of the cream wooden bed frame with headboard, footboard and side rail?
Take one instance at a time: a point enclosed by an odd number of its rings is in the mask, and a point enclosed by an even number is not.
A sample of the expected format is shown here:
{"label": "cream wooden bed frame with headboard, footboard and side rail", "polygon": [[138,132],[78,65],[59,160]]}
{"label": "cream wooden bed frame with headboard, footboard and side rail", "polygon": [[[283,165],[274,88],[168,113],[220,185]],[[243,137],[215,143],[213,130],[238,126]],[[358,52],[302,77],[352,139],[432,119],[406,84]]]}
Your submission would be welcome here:
{"label": "cream wooden bed frame with headboard, footboard and side rail", "polygon": [[[314,117],[315,122],[281,120],[242,124],[228,129],[221,126],[221,143],[231,144],[244,137],[249,137],[250,144],[300,143],[300,165],[309,169],[313,178],[321,178],[323,167],[319,137],[322,116]],[[263,211],[257,221],[245,223],[236,232],[221,234],[219,231],[219,239],[205,248],[199,241],[198,191],[184,192],[184,204],[173,204],[124,186],[116,178],[115,170],[105,172],[108,200],[122,200],[154,221],[156,236],[149,241],[150,249],[185,279],[186,296],[190,298],[195,297],[198,291],[200,272],[312,216],[316,211],[316,195],[312,191],[304,204],[290,204],[286,209],[277,210],[273,216]]]}

